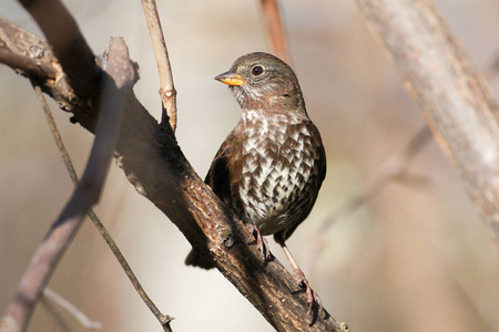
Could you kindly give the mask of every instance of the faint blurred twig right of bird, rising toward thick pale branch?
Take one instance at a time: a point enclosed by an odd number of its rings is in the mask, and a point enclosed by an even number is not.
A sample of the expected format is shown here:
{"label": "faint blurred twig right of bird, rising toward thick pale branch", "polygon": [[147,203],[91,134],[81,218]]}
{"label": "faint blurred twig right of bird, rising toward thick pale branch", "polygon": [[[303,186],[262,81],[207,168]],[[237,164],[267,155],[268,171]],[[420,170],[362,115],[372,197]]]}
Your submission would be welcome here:
{"label": "faint blurred twig right of bird, rising toward thick pale branch", "polygon": [[380,190],[391,180],[400,179],[403,176],[410,176],[407,174],[407,167],[413,158],[420,152],[420,149],[430,141],[431,132],[427,125],[424,125],[418,133],[410,139],[410,142],[389,160],[385,162],[383,166],[352,194],[344,204],[329,215],[317,231],[312,236],[312,243],[307,250],[306,264],[309,270],[315,267],[317,257],[324,250],[327,241],[327,232],[339,220],[345,220],[348,216],[354,214],[359,207],[367,204],[373,197],[380,193]]}

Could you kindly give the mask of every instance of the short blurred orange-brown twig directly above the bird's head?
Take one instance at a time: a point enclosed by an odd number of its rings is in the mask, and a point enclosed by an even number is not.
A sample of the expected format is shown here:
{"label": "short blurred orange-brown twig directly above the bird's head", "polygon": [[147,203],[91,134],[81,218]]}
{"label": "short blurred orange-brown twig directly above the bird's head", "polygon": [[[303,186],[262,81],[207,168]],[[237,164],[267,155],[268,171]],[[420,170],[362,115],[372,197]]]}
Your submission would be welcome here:
{"label": "short blurred orange-brown twig directly above the bird's head", "polygon": [[272,52],[291,65],[291,56],[277,0],[259,0],[259,6],[262,23]]}

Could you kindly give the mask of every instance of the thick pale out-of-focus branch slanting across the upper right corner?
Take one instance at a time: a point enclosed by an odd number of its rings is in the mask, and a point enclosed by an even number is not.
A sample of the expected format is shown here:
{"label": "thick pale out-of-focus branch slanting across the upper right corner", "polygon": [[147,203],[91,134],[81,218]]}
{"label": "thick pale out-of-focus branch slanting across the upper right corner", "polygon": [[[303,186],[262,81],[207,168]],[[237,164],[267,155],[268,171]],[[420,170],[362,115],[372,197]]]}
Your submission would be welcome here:
{"label": "thick pale out-of-focus branch slanting across the upper right corner", "polygon": [[499,239],[499,110],[431,0],[357,0]]}

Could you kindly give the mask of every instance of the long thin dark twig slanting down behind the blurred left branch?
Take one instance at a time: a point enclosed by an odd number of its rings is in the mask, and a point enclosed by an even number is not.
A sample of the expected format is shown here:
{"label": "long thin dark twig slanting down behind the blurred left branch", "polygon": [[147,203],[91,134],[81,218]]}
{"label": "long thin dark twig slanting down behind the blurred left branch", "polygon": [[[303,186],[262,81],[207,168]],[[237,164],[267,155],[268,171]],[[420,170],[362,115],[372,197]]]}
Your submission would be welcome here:
{"label": "long thin dark twig slanting down behind the blurred left branch", "polygon": [[[55,141],[55,144],[59,148],[59,152],[62,155],[62,159],[64,162],[64,165],[68,169],[68,173],[71,177],[71,180],[77,186],[79,183],[77,172],[74,170],[73,163],[71,162],[71,158],[68,154],[68,151],[64,147],[64,143],[62,142],[61,135],[59,133],[59,129],[57,127],[57,124],[53,120],[52,112],[50,111],[49,105],[47,104],[45,98],[43,97],[43,94],[40,91],[40,87],[34,87],[38,97],[40,100],[40,103],[43,106],[43,111],[45,114],[47,122],[49,124],[50,131],[52,132],[53,138]],[[95,225],[96,229],[101,234],[101,236],[104,238],[105,242],[110,247],[111,251],[116,257],[118,261],[120,262],[121,267],[123,268],[124,272],[129,277],[130,281],[132,282],[133,287],[135,288],[136,292],[141,297],[141,299],[144,301],[144,303],[147,305],[147,308],[152,311],[152,313],[156,317],[156,319],[160,321],[161,325],[165,331],[172,331],[170,328],[170,321],[173,320],[173,318],[165,315],[161,313],[161,311],[157,309],[157,307],[154,304],[154,302],[151,300],[151,298],[147,295],[147,293],[142,288],[139,279],[136,278],[133,270],[130,268],[126,259],[123,257],[120,248],[118,248],[118,245],[114,242],[111,235],[105,229],[104,225],[101,222],[100,218],[96,216],[96,214],[93,211],[93,209],[89,209],[88,216],[92,220],[92,222]],[[47,291],[47,289],[45,289]],[[44,293],[45,294],[45,293]],[[68,309],[67,309],[68,310]],[[68,310],[70,311],[70,310]],[[70,311],[72,312],[72,311]],[[78,317],[77,317],[78,319]]]}

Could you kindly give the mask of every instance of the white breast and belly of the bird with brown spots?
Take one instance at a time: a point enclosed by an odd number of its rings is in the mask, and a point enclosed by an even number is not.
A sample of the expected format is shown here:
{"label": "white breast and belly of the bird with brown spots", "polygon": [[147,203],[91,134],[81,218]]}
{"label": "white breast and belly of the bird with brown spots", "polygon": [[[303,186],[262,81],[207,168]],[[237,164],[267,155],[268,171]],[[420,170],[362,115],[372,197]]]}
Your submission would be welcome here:
{"label": "white breast and belly of the bird with brown spots", "polygon": [[308,122],[284,114],[262,116],[257,111],[245,115],[240,123],[240,215],[263,235],[275,234],[293,221],[286,212],[317,177],[316,151],[312,148]]}

